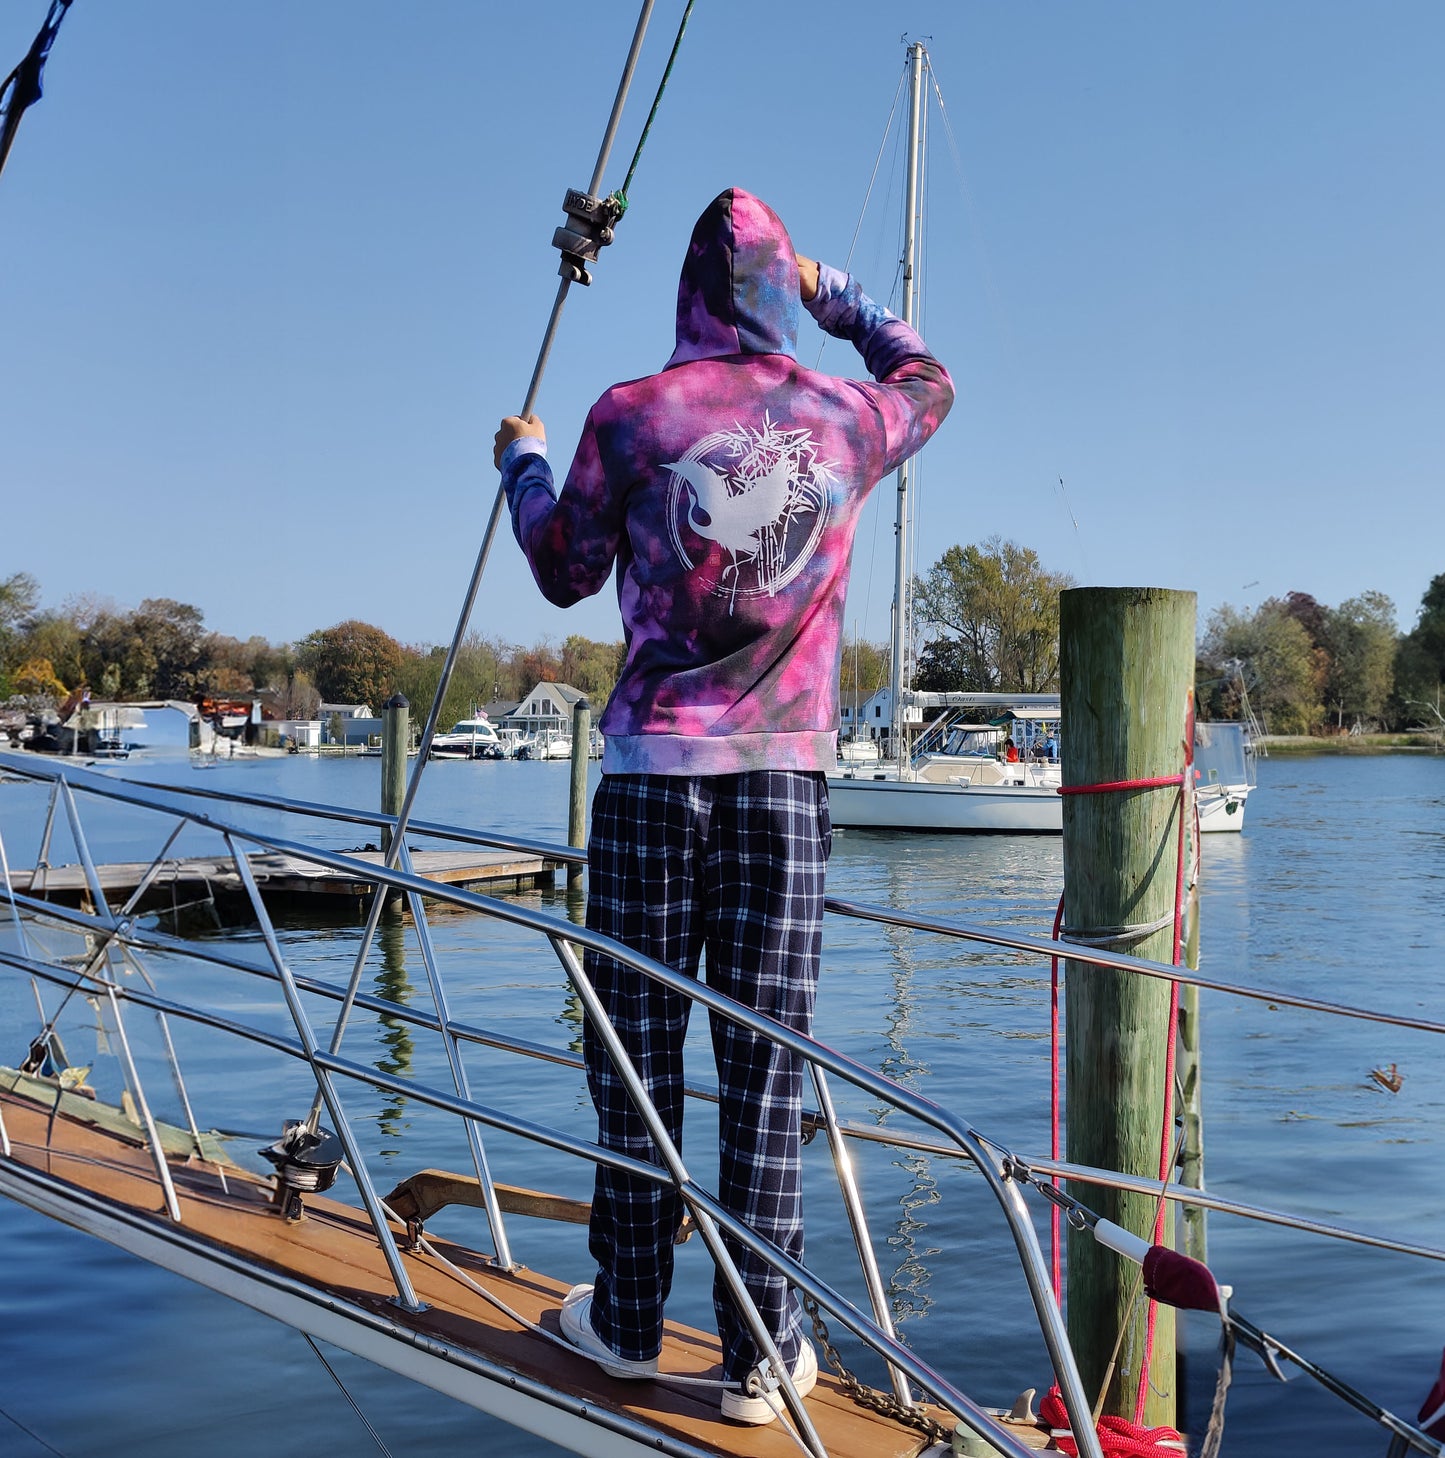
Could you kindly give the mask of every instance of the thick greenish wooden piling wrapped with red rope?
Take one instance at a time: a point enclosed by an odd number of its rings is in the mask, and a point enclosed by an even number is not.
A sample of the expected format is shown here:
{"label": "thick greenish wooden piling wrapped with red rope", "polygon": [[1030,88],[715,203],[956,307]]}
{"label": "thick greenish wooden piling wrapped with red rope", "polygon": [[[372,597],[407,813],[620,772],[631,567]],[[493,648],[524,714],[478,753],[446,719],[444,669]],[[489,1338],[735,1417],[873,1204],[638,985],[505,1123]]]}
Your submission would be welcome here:
{"label": "thick greenish wooden piling wrapped with red rope", "polygon": [[[1178,774],[1194,677],[1194,593],[1073,588],[1060,595],[1064,786]],[[1174,956],[1180,796],[1175,787],[1066,795],[1064,926],[1079,937]],[[1124,929],[1164,924],[1148,936]],[[1066,1099],[1072,1163],[1158,1178],[1169,986],[1067,962]],[[1169,1131],[1172,1142],[1172,1128]],[[1097,1185],[1073,1193],[1152,1239],[1158,1200]],[[1067,1318],[1085,1389],[1134,1419],[1146,1341],[1139,1267],[1070,1231]],[[1124,1333],[1117,1360],[1111,1353]],[[1175,1420],[1174,1312],[1159,1306],[1145,1422]]]}

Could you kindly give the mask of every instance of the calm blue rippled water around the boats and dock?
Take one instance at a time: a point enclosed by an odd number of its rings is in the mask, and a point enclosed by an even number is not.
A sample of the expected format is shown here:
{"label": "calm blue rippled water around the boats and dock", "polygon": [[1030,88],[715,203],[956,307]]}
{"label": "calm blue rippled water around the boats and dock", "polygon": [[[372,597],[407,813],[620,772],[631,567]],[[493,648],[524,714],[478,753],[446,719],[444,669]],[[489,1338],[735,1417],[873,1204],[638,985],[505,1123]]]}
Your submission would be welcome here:
{"label": "calm blue rippled water around the boats and dock", "polygon": [[[179,784],[245,787],[296,799],[370,805],[378,761],[306,758],[226,765],[204,776],[181,758],[137,758],[112,773]],[[435,764],[418,814],[563,838],[567,768],[557,764]],[[0,831],[12,865],[35,854],[42,793],[0,784]],[[1445,927],[1445,758],[1273,760],[1260,765],[1242,837],[1204,843],[1204,968],[1216,977],[1439,1016]],[[279,824],[258,815],[255,821]],[[87,816],[98,859],[156,849],[155,825],[104,811]],[[322,831],[356,844],[346,827]],[[197,841],[192,849],[201,849]],[[61,853],[52,859],[69,859]],[[1047,932],[1059,895],[1060,846],[1047,838],[888,838],[840,834],[838,895],[964,920]],[[535,895],[564,910],[566,897]],[[245,933],[241,933],[245,935]],[[356,929],[293,923],[297,970],[341,980]],[[576,1007],[550,954],[496,936],[474,917],[437,921],[452,1010],[519,1037],[575,1045]],[[378,948],[375,987],[426,1002],[410,935]],[[420,993],[417,989],[423,989]],[[28,997],[28,993],[25,994]],[[1025,958],[875,926],[830,923],[818,1032],[825,1041],[954,1107],[1021,1150],[1047,1149],[1048,970]],[[273,1009],[280,1026],[280,1009]],[[7,1047],[23,1056],[32,1013],[0,999]],[[1435,1041],[1324,1015],[1204,994],[1206,1172],[1212,1188],[1341,1225],[1442,1244],[1445,1060]],[[19,1031],[17,1031],[19,1029]],[[700,1082],[710,1082],[701,1021]],[[405,1029],[354,1026],[347,1051],[445,1079],[436,1050]],[[303,1082],[241,1086],[239,1069],[182,1047],[203,1126],[274,1137],[308,1102]],[[71,1048],[71,1057],[80,1054]],[[200,1061],[198,1061],[200,1060]],[[1395,1063],[1397,1095],[1369,1079]],[[580,1080],[564,1070],[518,1079],[515,1063],[478,1057],[474,1088],[591,1134]],[[486,1094],[483,1094],[486,1089]],[[834,1086],[836,1095],[841,1091]],[[264,1112],[260,1117],[258,1102]],[[840,1096],[847,1117],[876,1111]],[[169,1114],[169,1111],[166,1111]],[[707,1110],[690,1111],[688,1153],[706,1172]],[[404,1101],[378,1101],[366,1121],[378,1159],[397,1174],[427,1163],[465,1168],[449,1133]],[[401,1153],[404,1150],[404,1153]],[[488,1145],[499,1178],[588,1193],[563,1163]],[[809,1258],[834,1271],[852,1260],[821,1142],[809,1178]],[[1047,1385],[1043,1344],[1002,1222],[977,1178],[922,1156],[866,1149],[865,1197],[908,1341],[975,1397],[1006,1404]],[[440,1233],[452,1233],[437,1220]],[[588,1279],[585,1238],[516,1222],[516,1254],[561,1279]],[[1413,1417],[1445,1341],[1445,1267],[1215,1216],[1210,1264],[1245,1315],[1305,1356]],[[6,1458],[147,1455],[341,1458],[375,1451],[302,1337],[111,1247],[0,1201],[0,1454]],[[709,1270],[697,1242],[681,1252],[669,1308],[710,1324]],[[1185,1410],[1200,1426],[1213,1385],[1218,1321],[1190,1317]],[[545,1445],[446,1398],[328,1350],[383,1441],[437,1458],[537,1454]],[[1241,1353],[1225,1452],[1382,1452],[1378,1430],[1314,1384],[1270,1379]]]}

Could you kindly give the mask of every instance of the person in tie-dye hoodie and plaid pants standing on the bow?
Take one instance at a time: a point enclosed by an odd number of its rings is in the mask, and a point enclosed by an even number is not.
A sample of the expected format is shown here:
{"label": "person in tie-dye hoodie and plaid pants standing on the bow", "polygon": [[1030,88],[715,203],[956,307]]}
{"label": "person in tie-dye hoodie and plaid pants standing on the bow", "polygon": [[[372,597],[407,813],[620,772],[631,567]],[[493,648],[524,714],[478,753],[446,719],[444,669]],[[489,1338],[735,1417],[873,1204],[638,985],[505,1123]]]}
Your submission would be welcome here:
{"label": "person in tie-dye hoodie and plaid pants standing on the bow", "polygon": [[[799,300],[849,340],[872,381],[798,363]],[[946,370],[846,274],[801,258],[779,217],[731,188],[693,229],[677,348],[592,407],[560,496],[535,417],[496,437],[512,525],[560,607],[617,569],[627,658],[602,713],[586,924],[811,1032],[831,846],[824,770],[837,760],[849,558],[873,484],[933,434]],[[585,954],[585,968],[669,1137],[682,1133],[691,1003]],[[710,1015],[722,1107],[719,1198],[802,1260],[802,1060]],[[591,1025],[583,1035],[599,1142],[661,1163]],[[672,1242],[669,1187],[599,1169],[595,1286],[563,1306],[567,1338],[615,1376],[658,1369]],[[817,1376],[783,1277],[729,1241],[799,1391]],[[766,1423],[749,1391],[761,1353],[722,1279],[713,1299],[723,1414]]]}

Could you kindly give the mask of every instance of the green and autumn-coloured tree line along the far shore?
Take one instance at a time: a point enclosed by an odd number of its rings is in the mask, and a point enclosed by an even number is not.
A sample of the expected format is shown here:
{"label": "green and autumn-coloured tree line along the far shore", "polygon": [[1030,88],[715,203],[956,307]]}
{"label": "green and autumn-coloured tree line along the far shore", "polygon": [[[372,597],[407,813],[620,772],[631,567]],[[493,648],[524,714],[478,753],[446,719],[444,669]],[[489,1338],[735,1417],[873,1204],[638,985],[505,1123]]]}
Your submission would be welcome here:
{"label": "green and autumn-coloured tree line along the far shore", "polygon": [[[1000,537],[949,547],[913,590],[919,690],[1050,693],[1059,688],[1059,592],[1072,579]],[[443,723],[472,707],[518,700],[542,679],[573,684],[595,704],[621,672],[621,642],[582,636],[531,647],[470,634],[442,706]],[[356,620],[296,643],[235,639],[206,628],[200,608],[147,598],[137,608],[82,596],[41,602],[25,572],[0,579],[0,703],[58,701],[90,688],[98,698],[260,697],[279,717],[312,717],[325,703],[379,709],[402,693],[417,714],[432,707],[446,650],[398,643]],[[887,644],[846,643],[838,687],[846,704],[888,682]],[[1200,637],[1196,690],[1201,717],[1236,717],[1245,704],[1273,733],[1323,733],[1356,725],[1439,726],[1445,681],[1445,573],[1426,589],[1413,627],[1365,592],[1327,607],[1306,592],[1258,608],[1218,608]]]}

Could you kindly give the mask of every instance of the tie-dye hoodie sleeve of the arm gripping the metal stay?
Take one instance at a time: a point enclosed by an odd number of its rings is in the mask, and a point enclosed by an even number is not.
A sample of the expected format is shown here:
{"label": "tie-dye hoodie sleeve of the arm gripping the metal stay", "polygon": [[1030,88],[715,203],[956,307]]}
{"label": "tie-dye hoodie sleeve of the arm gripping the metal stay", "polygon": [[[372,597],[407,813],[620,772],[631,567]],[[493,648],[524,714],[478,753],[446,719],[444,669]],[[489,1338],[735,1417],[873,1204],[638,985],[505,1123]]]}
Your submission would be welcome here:
{"label": "tie-dye hoodie sleeve of the arm gripping the metal stay", "polygon": [[561,496],[553,494],[553,472],[538,451],[505,455],[502,486],[526,561],[542,596],[570,608],[599,592],[611,576],[621,539],[620,504],[608,490],[596,429],[588,416]]}

